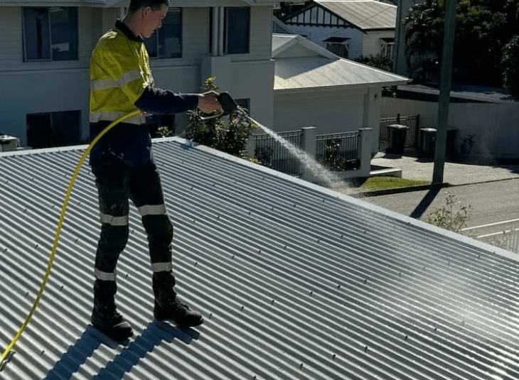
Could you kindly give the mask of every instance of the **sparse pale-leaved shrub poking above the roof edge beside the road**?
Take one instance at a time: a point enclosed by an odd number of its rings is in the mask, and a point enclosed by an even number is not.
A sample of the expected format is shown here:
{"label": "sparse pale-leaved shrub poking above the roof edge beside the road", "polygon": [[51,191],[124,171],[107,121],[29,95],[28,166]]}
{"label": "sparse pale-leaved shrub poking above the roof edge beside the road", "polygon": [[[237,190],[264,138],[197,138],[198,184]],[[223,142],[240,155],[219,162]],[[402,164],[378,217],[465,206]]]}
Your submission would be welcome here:
{"label": "sparse pale-leaved shrub poking above the roof edge beside the road", "polygon": [[446,192],[445,205],[437,207],[424,217],[424,221],[453,232],[461,232],[472,217],[471,205],[458,205],[456,196]]}

